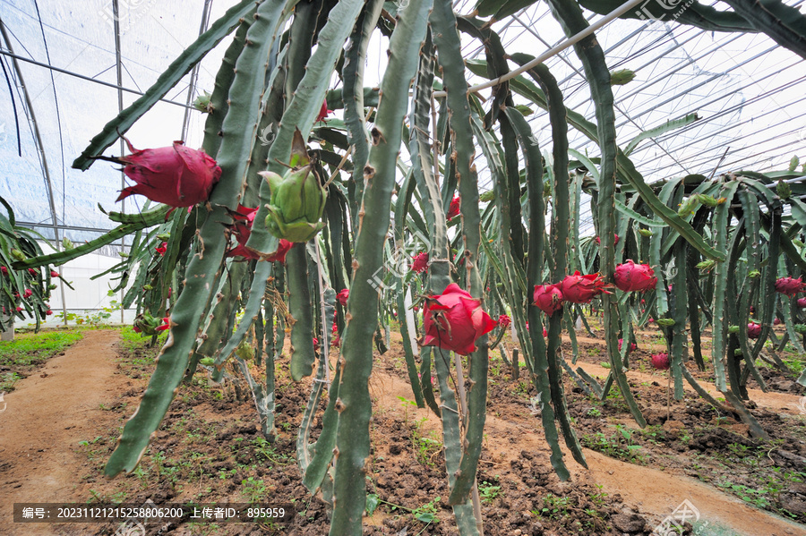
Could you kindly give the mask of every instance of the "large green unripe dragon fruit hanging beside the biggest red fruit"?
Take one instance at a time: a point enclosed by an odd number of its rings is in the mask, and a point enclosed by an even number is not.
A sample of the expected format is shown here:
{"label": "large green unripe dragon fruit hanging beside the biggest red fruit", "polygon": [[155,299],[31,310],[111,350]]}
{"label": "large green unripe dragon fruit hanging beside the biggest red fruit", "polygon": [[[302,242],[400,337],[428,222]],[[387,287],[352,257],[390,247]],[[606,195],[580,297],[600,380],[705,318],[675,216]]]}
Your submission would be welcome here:
{"label": "large green unripe dragon fruit hanging beside the biggest red fruit", "polygon": [[260,173],[269,182],[271,192],[266,226],[271,234],[288,242],[308,242],[324,227],[319,220],[328,194],[299,130],[294,132],[288,166],[283,176],[270,171]]}

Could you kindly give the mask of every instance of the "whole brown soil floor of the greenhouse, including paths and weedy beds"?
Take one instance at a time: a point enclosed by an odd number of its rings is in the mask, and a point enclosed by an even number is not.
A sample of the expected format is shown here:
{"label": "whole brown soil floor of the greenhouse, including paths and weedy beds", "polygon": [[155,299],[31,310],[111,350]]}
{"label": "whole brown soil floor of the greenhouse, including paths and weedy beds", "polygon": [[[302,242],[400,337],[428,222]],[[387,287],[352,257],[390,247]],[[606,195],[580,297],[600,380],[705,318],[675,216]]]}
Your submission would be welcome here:
{"label": "whole brown soil floor of the greenhouse, including paths and weedy beds", "polygon": [[[595,334],[596,335],[596,334]],[[784,536],[806,534],[806,411],[802,387],[765,369],[772,391],[750,383],[751,412],[770,441],[751,438],[731,414],[686,391],[666,419],[665,375],[648,367],[656,332],[639,334],[628,379],[649,426],[641,430],[617,393],[600,401],[573,379],[565,393],[588,469],[568,452],[570,481],[549,463],[536,391],[521,371],[494,353],[478,483],[490,535],[650,534],[668,516],[689,514],[685,533]],[[509,337],[505,337],[506,341]],[[657,347],[654,347],[656,345]],[[509,344],[511,348],[511,343]],[[570,360],[570,344],[563,352]],[[296,430],[310,380],[294,384],[279,362],[278,436],[262,438],[251,396],[210,387],[203,373],[180,387],[167,418],[132,474],[107,481],[103,467],[153,370],[155,349],[121,345],[117,331],[88,330],[5,396],[0,413],[0,534],[137,534],[113,523],[13,523],[15,502],[124,501],[157,505],[286,503],[293,519],[280,527],[244,523],[145,525],[148,534],[288,534],[328,532],[326,504],[310,496],[297,469]],[[600,378],[601,339],[579,338],[572,365]],[[606,364],[606,363],[605,363]],[[712,376],[688,363],[700,383]],[[257,372],[258,370],[256,370]],[[368,492],[378,499],[367,534],[456,534],[447,498],[440,422],[417,409],[402,347],[376,355],[372,465]],[[710,386],[714,396],[719,396]],[[321,430],[321,413],[314,436]],[[687,502],[686,502],[687,501]],[[676,512],[676,514],[675,514]],[[789,518],[788,520],[786,518]],[[800,522],[800,523],[798,523]],[[656,532],[657,533],[657,532]],[[676,532],[675,532],[676,533]]]}

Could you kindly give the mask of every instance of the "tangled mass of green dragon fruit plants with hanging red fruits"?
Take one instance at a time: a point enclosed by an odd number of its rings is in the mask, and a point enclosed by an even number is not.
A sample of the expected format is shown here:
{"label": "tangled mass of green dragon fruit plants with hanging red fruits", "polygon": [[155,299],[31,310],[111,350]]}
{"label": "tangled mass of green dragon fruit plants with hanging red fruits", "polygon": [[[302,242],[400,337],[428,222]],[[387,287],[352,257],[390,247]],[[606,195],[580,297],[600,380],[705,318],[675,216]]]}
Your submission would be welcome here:
{"label": "tangled mass of green dragon fruit plants with hanging red fruits", "polygon": [[[578,2],[547,1],[567,35],[588,28]],[[108,213],[115,229],[70,251],[24,251],[17,259],[8,258],[11,248],[0,248],[6,268],[0,277],[10,291],[7,311],[31,302],[41,309],[50,266],[133,235],[132,251],[113,269],[121,288],[130,289],[124,305],[138,308],[142,331],[169,332],[170,344],[160,350],[107,476],[134,470],[183,380],[197,370],[220,378],[227,362],[252,388],[261,431],[273,439],[275,362],[288,328],[291,380],[316,380],[297,432],[304,486],[332,507],[331,535],[362,534],[372,455],[367,386],[373,343],[379,349],[385,344],[395,316],[416,404],[442,422],[445,502],[461,536],[483,529],[476,472],[488,334],[496,324],[487,311],[509,311],[528,377],[540,393],[550,461],[562,480],[570,478],[566,453],[582,466],[586,461],[563,390],[568,372],[561,333],[571,334],[576,319],[587,323],[599,312],[613,381],[603,387],[590,379],[591,386],[603,398],[618,386],[639,426],[646,421],[618,346],[620,337],[630,340],[631,330],[651,317],[663,322],[669,337],[667,356],[656,362],[670,370],[673,396],[682,399],[683,379],[699,387],[682,360],[691,352],[705,369],[699,330],[709,326],[716,387],[745,415],[754,436],[766,436],[731,396],[739,386],[728,382],[749,374],[764,385],[754,363],[779,309],[793,345],[801,344],[793,300],[776,296],[804,290],[798,276],[806,268],[806,235],[789,216],[801,212],[785,210],[800,202],[798,196],[776,195],[775,181],[742,172],[647,182],[629,157],[642,138],[617,145],[622,139],[616,136],[613,78],[596,36],[576,46],[596,115],[590,122],[567,107],[545,64],[519,53],[517,45],[502,45],[488,18],[507,19],[511,6],[505,4],[484,2],[462,16],[447,0],[411,0],[405,10],[380,0],[241,0],[90,141],[74,167],[112,159],[134,182],[120,199],[140,194],[163,204],[141,214]],[[586,7],[604,10],[598,4]],[[734,9],[737,20],[745,16]],[[707,22],[725,31],[744,24],[725,28],[708,13],[698,16],[679,22]],[[777,38],[781,25],[770,15],[746,27]],[[369,43],[380,32],[390,36],[388,65],[379,88],[364,87]],[[127,132],[230,33],[215,85],[198,102],[205,114],[200,149],[179,143],[134,149],[130,143],[129,155],[102,156],[118,132]],[[466,62],[467,39],[484,47],[484,60]],[[524,66],[517,83],[497,81],[487,101],[471,92],[467,71],[497,79],[511,76],[515,64]],[[540,128],[551,127],[551,155],[538,146],[519,107],[511,106],[519,88],[531,89],[517,99],[547,112]],[[663,129],[696,119],[688,115]],[[598,145],[596,173],[570,166],[569,126]],[[482,159],[492,191],[479,191]],[[579,235],[582,191],[594,200],[599,240]],[[784,277],[778,274],[784,266],[800,271]],[[28,268],[40,268],[39,274]],[[37,287],[24,277],[45,280]],[[639,296],[612,294],[611,282],[625,293],[656,292],[640,303]],[[729,333],[728,327],[748,323],[751,302],[758,309],[759,338],[749,339],[743,329]],[[420,348],[412,343],[418,330]],[[744,359],[725,360],[737,342]],[[336,345],[338,357],[330,359]],[[265,380],[253,378],[255,367],[265,369]],[[667,408],[669,396],[671,385]]]}

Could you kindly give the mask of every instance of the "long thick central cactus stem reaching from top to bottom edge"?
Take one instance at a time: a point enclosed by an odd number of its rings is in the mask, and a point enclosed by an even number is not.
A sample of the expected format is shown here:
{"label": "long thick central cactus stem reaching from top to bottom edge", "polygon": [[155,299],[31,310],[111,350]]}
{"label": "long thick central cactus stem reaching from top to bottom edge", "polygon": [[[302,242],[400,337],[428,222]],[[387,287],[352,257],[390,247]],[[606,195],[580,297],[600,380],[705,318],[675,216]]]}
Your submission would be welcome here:
{"label": "long thick central cactus stem reaching from top to bottom edge", "polygon": [[[341,2],[352,10],[351,0]],[[373,129],[373,147],[364,166],[364,198],[358,212],[358,235],[353,259],[353,283],[347,302],[347,326],[341,353],[341,381],[336,411],[339,429],[334,455],[331,536],[359,536],[366,501],[364,477],[369,449],[369,419],[372,404],[367,382],[373,366],[372,340],[377,325],[378,292],[371,283],[382,268],[382,248],[390,224],[390,200],[395,186],[395,167],[401,143],[408,89],[416,74],[420,47],[425,38],[428,1],[412,0],[392,33],[389,66],[381,82],[383,98]],[[357,18],[357,10],[351,21]],[[343,21],[331,22],[345,25]],[[352,23],[348,28],[352,28]],[[327,29],[327,27],[326,27]],[[343,40],[341,41],[343,42]],[[322,47],[322,45],[320,45]],[[372,210],[366,208],[372,207]]]}

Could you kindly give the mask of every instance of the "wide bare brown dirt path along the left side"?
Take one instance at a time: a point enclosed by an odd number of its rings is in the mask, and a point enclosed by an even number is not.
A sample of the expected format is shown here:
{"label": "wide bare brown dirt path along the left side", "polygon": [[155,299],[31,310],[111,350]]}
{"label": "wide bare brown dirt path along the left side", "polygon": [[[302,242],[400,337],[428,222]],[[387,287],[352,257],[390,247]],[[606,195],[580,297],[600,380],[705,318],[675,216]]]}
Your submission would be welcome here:
{"label": "wide bare brown dirt path along the left side", "polygon": [[117,331],[85,331],[83,339],[5,396],[0,413],[0,534],[52,534],[52,525],[13,523],[15,502],[69,502],[81,488],[86,455],[74,449],[116,416],[127,379],[116,374]]}

